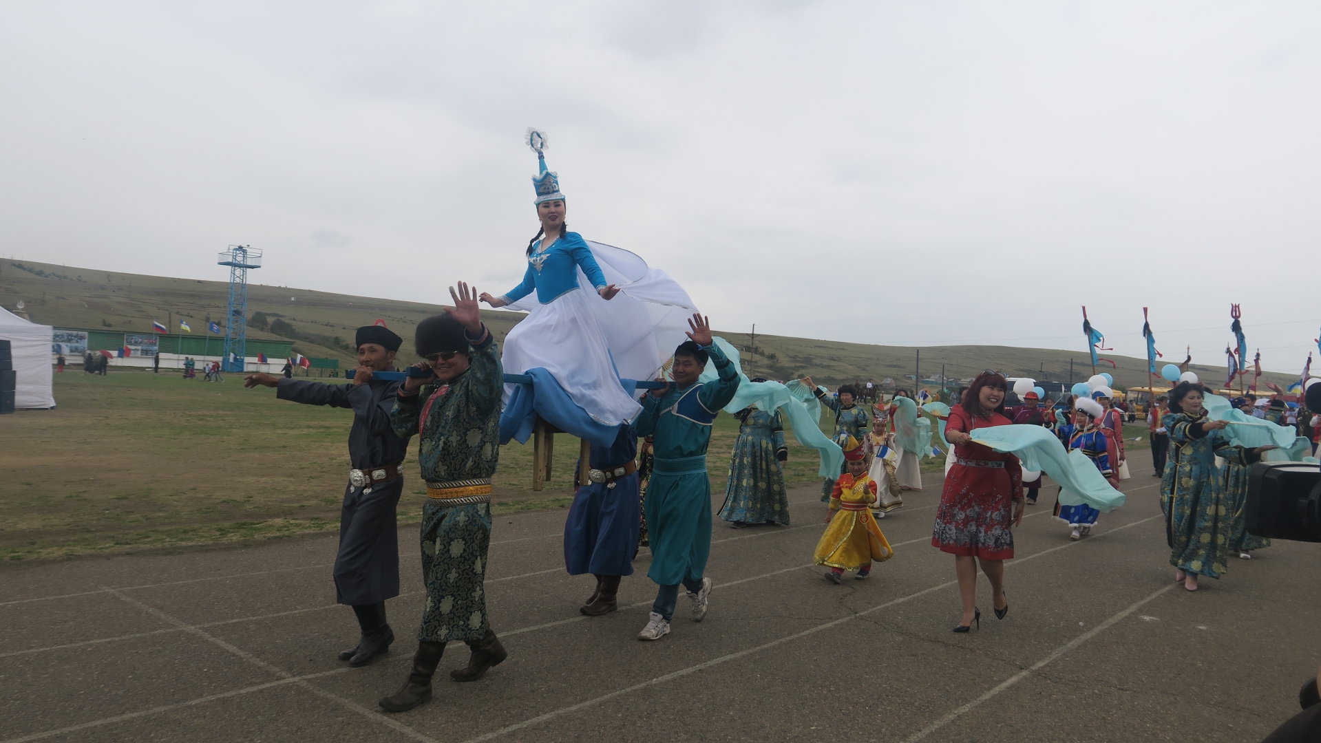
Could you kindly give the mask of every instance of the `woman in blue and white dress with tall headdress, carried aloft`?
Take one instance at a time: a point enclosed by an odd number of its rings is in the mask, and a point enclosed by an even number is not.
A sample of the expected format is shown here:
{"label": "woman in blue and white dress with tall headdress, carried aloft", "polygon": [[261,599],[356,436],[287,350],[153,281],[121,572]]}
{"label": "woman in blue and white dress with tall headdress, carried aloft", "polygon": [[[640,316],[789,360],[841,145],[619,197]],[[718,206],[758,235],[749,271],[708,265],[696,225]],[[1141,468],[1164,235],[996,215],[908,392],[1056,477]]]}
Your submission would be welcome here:
{"label": "woman in blue and white dress with tall headdress, carried aloft", "polygon": [[[590,422],[617,426],[642,409],[620,379],[654,379],[696,307],[637,255],[569,232],[559,177],[546,168],[546,137],[530,129],[527,144],[540,169],[532,183],[542,228],[527,245],[523,281],[499,297],[481,296],[493,307],[530,313],[505,339],[501,363],[506,373],[544,368]],[[513,392],[506,384],[506,403]],[[601,436],[609,445],[614,432]]]}

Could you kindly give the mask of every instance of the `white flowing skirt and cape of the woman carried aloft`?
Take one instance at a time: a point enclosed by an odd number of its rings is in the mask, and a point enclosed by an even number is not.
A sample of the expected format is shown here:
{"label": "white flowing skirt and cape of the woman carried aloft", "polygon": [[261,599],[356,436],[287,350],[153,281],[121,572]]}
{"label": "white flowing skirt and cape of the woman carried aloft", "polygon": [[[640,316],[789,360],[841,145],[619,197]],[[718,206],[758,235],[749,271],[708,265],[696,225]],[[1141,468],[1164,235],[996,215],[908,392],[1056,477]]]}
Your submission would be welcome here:
{"label": "white flowing skirt and cape of the woman carried aloft", "polygon": [[[692,300],[663,271],[637,255],[588,242],[605,280],[621,286],[602,300],[579,269],[579,288],[540,304],[530,294],[510,305],[528,310],[505,339],[506,373],[543,367],[592,420],[618,425],[642,406],[620,385],[620,377],[655,379],[662,364],[686,338]],[[505,401],[514,391],[505,385]]]}

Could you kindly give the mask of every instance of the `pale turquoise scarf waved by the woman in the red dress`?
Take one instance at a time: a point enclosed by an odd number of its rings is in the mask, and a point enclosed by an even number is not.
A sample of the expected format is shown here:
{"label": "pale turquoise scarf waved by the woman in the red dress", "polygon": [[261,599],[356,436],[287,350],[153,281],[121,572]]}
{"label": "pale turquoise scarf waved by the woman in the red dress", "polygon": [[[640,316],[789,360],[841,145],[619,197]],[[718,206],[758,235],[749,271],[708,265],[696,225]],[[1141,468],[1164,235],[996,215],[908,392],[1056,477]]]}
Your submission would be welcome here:
{"label": "pale turquoise scarf waved by the woman in the red dress", "polygon": [[972,441],[1000,453],[1013,454],[1024,470],[1045,472],[1059,484],[1059,503],[1078,505],[1086,503],[1102,513],[1124,504],[1124,494],[1111,487],[1086,454],[1074,449],[1065,451],[1055,434],[1042,426],[1008,425],[975,429]]}

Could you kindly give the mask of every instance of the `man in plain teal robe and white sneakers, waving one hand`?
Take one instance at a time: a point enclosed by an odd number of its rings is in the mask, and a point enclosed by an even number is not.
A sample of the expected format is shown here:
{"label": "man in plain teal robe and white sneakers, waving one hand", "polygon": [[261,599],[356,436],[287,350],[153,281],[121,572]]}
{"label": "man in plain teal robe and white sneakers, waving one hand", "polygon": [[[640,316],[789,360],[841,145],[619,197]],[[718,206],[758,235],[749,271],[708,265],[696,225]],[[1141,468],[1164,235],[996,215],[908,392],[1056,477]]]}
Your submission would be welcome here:
{"label": "man in plain teal robe and white sneakers, waving one hand", "polygon": [[[674,352],[671,383],[642,400],[634,421],[638,436],[653,436],[655,468],[647,484],[646,517],[651,541],[647,577],[660,585],[641,640],[659,640],[670,633],[670,619],[679,586],[688,589],[692,620],[707,614],[711,578],[703,577],[711,554],[711,478],[707,475],[707,445],[716,414],[738,391],[738,372],[711,338],[711,325],[701,315],[688,321],[692,333]],[[697,376],[711,360],[715,381]]]}

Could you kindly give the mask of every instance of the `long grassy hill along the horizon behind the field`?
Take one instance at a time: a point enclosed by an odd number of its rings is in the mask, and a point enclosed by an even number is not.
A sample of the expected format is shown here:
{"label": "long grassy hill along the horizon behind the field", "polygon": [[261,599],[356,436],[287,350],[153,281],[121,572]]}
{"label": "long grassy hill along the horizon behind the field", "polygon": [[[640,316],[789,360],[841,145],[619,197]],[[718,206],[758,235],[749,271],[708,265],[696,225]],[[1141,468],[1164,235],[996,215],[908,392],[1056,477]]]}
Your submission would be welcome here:
{"label": "long grassy hill along the horizon behind the field", "polygon": [[[0,261],[0,305],[12,310],[22,300],[30,318],[44,325],[149,333],[153,318],[165,322],[173,314],[176,323],[184,317],[197,329],[213,318],[221,322],[227,298],[229,284],[223,281]],[[262,313],[266,318],[264,323],[258,323],[263,327],[250,326],[251,338],[293,340],[295,351],[304,356],[337,358],[341,364],[354,359],[353,333],[358,326],[383,318],[394,331],[411,339],[417,322],[439,311],[439,305],[420,302],[248,285],[250,317],[260,319],[258,313]],[[499,339],[523,317],[497,310],[483,311],[482,315]],[[745,368],[750,376],[790,379],[807,373],[831,385],[856,379],[881,381],[890,377],[911,387],[911,380],[905,380],[904,375],[913,373],[918,351],[923,379],[939,375],[943,364],[946,376],[951,379],[971,377],[992,368],[1009,376],[1067,381],[1070,359],[1074,381],[1085,380],[1091,372],[1086,351],[1009,346],[915,348],[758,334],[756,348],[746,352],[753,340],[746,333],[719,333],[745,350]],[[410,346],[406,343],[404,350]],[[1116,385],[1147,384],[1145,359],[1110,358],[1118,368],[1107,367],[1104,371],[1115,376]],[[1201,364],[1194,364],[1193,371],[1206,380],[1219,380],[1223,375],[1221,367]],[[1295,377],[1267,373],[1263,379],[1284,385]]]}

